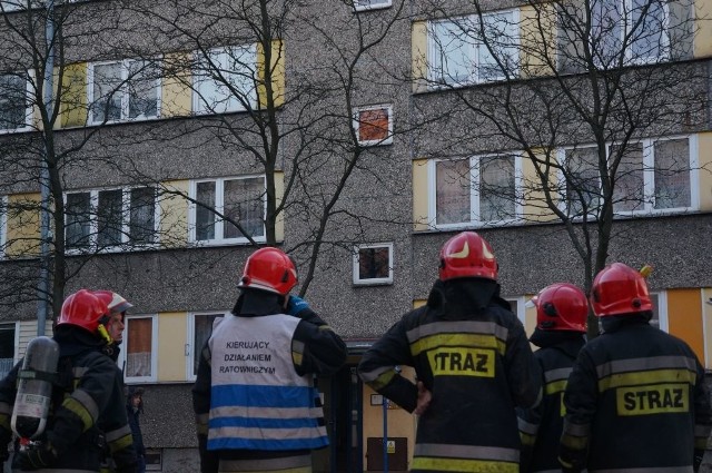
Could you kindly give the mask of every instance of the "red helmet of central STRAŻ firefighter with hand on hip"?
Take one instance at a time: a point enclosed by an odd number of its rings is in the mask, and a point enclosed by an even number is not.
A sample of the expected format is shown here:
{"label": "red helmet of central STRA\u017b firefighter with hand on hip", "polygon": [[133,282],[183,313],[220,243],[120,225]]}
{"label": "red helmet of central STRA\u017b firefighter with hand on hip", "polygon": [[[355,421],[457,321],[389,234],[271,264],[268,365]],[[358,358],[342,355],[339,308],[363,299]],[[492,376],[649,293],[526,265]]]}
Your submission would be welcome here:
{"label": "red helmet of central STRA\u017b firefighter with hand on hip", "polygon": [[455,235],[441,249],[441,280],[457,277],[497,279],[497,260],[492,247],[474,231]]}

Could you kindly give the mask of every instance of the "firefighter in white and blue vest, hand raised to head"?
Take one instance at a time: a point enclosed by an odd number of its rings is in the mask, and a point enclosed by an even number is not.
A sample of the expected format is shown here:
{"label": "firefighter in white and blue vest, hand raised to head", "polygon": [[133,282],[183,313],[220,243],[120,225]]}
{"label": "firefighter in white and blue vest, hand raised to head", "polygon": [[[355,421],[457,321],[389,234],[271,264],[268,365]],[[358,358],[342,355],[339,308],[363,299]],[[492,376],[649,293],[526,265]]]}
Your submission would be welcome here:
{"label": "firefighter in white and blue vest, hand raised to head", "polygon": [[289,292],[297,270],[280,249],[253,253],[230,314],[218,317],[192,388],[200,471],[312,471],[328,445],[315,375],[332,375],[346,345]]}

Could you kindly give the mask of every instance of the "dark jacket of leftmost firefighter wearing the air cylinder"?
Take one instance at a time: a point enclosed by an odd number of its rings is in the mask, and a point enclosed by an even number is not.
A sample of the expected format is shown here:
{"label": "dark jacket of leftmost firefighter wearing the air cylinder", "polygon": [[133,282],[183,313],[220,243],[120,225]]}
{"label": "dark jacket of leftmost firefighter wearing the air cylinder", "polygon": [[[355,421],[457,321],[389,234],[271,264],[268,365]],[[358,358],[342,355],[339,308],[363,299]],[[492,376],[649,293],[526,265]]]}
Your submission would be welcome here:
{"label": "dark jacket of leftmost firefighter wearing the air cylinder", "polygon": [[[134,473],[137,459],[123,407],[121,371],[102,353],[102,342],[80,327],[59,325],[53,338],[59,344],[58,383],[40,440],[53,447],[57,461],[47,471],[98,472],[108,443],[116,471]],[[9,427],[6,420],[12,415],[21,364],[0,382],[0,430]]]}

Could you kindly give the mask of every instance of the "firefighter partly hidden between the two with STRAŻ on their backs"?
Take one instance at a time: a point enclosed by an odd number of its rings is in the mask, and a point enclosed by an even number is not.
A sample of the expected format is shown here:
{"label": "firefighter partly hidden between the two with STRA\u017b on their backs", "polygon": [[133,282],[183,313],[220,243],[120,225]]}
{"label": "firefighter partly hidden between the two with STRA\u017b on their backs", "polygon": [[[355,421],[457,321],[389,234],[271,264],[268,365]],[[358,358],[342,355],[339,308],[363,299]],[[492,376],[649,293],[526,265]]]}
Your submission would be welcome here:
{"label": "firefighter partly hidden between the two with STRA\u017b on their backs", "polygon": [[563,397],[576,355],[586,343],[589,300],[568,283],[546,286],[530,300],[536,307],[536,327],[530,342],[542,368],[543,397],[533,408],[518,408],[522,459],[520,470],[557,471],[558,441],[564,423]]}

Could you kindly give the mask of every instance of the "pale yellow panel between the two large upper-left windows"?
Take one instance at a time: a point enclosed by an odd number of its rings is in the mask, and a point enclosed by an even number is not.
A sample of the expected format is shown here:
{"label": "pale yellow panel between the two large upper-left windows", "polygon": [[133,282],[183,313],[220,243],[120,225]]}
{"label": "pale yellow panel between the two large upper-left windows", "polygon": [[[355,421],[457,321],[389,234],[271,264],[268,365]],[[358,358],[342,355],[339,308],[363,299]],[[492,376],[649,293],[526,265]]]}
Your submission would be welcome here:
{"label": "pale yellow panel between the two large upper-left windows", "polygon": [[161,117],[186,117],[192,110],[190,53],[164,56],[164,81],[161,85]]}

